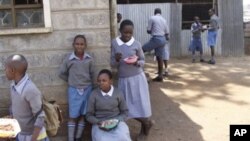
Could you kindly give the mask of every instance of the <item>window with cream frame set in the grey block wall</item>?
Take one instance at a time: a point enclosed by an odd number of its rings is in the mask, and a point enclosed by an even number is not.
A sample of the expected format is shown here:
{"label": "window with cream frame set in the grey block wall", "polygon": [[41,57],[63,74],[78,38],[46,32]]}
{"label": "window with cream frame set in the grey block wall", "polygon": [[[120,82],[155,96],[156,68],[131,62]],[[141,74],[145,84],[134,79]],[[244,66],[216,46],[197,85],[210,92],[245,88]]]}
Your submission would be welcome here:
{"label": "window with cream frame set in the grey block wall", "polygon": [[0,0],[0,35],[50,31],[49,0]]}

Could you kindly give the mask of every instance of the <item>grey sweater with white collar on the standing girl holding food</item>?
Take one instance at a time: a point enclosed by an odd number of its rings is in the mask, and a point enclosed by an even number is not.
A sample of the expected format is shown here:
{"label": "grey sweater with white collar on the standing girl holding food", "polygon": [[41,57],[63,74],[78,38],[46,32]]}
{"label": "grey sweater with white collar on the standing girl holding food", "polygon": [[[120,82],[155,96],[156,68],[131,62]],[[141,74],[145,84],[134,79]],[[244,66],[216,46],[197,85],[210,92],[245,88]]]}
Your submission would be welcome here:
{"label": "grey sweater with white collar on the standing girl holding food", "polygon": [[[122,58],[119,62],[115,60],[115,54],[121,53]],[[138,61],[135,65],[126,64],[124,59],[130,56],[138,56]],[[133,37],[130,41],[124,43],[119,37],[111,42],[111,66],[118,68],[119,77],[135,76],[143,72],[142,67],[145,63],[144,53],[140,42]]]}

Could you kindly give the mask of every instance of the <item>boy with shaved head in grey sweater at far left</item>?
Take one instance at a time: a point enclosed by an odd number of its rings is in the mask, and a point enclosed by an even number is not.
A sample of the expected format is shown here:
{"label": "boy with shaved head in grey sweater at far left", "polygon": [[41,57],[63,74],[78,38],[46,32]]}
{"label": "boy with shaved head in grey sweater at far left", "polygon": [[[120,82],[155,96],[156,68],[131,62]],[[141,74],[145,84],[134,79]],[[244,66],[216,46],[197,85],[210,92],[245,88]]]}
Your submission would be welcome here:
{"label": "boy with shaved head in grey sweater at far left", "polygon": [[44,128],[45,114],[41,111],[42,95],[26,74],[27,67],[23,55],[11,55],[5,64],[6,77],[13,81],[10,88],[12,116],[21,127],[17,140],[48,141]]}

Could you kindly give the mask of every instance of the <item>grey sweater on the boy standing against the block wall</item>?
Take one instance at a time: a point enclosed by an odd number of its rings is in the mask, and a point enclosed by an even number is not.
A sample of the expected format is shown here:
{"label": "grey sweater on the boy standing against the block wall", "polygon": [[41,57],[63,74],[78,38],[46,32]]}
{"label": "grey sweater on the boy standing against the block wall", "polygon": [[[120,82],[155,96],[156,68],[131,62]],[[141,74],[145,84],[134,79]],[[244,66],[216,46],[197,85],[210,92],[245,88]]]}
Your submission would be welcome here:
{"label": "grey sweater on the boy standing against the block wall", "polygon": [[86,88],[94,80],[93,58],[87,53],[84,53],[82,60],[74,52],[69,54],[62,63],[59,77],[68,82],[69,86]]}

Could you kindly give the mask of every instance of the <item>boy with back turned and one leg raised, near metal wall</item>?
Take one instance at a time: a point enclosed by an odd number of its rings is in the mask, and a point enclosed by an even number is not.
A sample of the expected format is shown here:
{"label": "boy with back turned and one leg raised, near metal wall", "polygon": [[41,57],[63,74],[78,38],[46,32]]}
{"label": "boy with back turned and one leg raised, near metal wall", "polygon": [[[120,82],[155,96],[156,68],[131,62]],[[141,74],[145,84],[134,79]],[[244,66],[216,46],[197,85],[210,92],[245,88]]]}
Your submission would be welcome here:
{"label": "boy with back turned and one leg raised, near metal wall", "polygon": [[143,45],[144,52],[155,50],[155,56],[158,63],[158,76],[153,81],[163,81],[163,55],[164,46],[169,38],[168,26],[166,20],[161,15],[161,9],[156,8],[154,10],[154,16],[149,19],[147,33],[151,34],[149,42]]}

